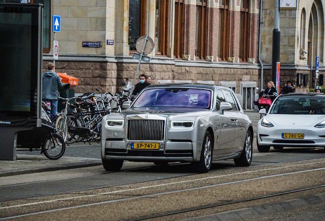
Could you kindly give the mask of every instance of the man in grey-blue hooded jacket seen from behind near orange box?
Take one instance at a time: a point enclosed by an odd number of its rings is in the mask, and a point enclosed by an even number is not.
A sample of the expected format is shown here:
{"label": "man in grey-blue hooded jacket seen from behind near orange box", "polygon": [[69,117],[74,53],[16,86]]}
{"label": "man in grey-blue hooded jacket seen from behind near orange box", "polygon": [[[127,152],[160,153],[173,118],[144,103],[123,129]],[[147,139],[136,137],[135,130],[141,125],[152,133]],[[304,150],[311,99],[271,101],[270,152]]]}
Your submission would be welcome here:
{"label": "man in grey-blue hooded jacket seen from behind near orange box", "polygon": [[51,119],[58,111],[58,86],[63,86],[60,76],[54,70],[54,63],[49,63],[48,71],[42,76],[42,100],[51,104]]}

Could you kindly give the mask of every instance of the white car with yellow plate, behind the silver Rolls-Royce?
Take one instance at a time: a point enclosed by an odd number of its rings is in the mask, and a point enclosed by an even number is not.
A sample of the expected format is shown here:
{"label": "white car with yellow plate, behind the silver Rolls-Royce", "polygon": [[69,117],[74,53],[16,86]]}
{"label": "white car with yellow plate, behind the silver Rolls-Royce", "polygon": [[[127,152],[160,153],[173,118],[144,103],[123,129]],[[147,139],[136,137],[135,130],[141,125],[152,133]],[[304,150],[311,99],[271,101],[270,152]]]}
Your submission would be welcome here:
{"label": "white car with yellow plate, behind the silver Rolls-Royce", "polygon": [[325,95],[291,93],[280,95],[258,123],[257,146],[260,152],[283,147],[325,148]]}

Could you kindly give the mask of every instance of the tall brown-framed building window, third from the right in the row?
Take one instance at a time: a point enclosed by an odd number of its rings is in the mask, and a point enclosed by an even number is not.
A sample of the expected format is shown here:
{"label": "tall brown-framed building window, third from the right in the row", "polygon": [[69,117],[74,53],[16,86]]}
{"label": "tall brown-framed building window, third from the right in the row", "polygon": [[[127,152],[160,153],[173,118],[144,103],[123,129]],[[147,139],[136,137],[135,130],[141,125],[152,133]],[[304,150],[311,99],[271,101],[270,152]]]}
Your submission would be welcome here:
{"label": "tall brown-framed building window, third from the right in the row", "polygon": [[196,0],[195,56],[205,59],[206,0]]}

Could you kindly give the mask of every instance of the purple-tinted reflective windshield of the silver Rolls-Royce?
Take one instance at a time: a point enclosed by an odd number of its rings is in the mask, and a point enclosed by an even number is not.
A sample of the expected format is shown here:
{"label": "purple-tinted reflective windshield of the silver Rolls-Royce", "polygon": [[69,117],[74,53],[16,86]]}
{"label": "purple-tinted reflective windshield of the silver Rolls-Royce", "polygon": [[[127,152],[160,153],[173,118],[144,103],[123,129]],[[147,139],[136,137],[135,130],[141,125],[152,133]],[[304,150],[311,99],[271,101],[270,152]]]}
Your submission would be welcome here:
{"label": "purple-tinted reflective windshield of the silver Rolls-Royce", "polygon": [[210,109],[211,91],[175,88],[145,90],[133,107],[194,107]]}

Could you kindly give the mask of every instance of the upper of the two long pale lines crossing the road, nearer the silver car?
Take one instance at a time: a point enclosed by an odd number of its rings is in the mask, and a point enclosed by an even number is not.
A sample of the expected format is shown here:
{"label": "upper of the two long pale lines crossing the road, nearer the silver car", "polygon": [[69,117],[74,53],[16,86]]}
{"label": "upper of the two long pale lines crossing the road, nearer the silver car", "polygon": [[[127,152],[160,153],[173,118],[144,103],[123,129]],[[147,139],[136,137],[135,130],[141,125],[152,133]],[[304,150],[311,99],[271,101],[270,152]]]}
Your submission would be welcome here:
{"label": "upper of the two long pale lines crossing the road, nearer the silver car", "polygon": [[[314,163],[308,163],[308,164],[300,164],[299,166],[306,166],[306,165],[312,165],[312,164],[318,164],[318,163],[324,163],[324,162],[314,162]],[[57,202],[57,201],[75,200],[75,199],[84,198],[84,197],[107,195],[107,194],[112,194],[112,193],[121,193],[121,192],[127,192],[127,191],[133,191],[133,190],[141,190],[141,189],[154,188],[154,187],[161,187],[161,186],[167,186],[167,185],[174,185],[174,184],[181,184],[181,183],[188,183],[188,182],[196,182],[196,181],[208,180],[208,179],[213,179],[213,178],[222,178],[222,177],[231,176],[231,175],[240,175],[240,174],[245,174],[245,173],[261,172],[261,171],[274,170],[274,169],[284,169],[284,168],[295,167],[295,166],[297,166],[297,165],[291,165],[291,166],[285,166],[285,167],[276,167],[276,168],[268,168],[268,169],[262,169],[262,170],[254,170],[254,171],[246,171],[246,172],[239,172],[239,173],[226,174],[226,175],[211,176],[211,177],[208,177],[208,178],[199,178],[199,179],[195,179],[195,180],[179,181],[179,182],[168,183],[168,184],[157,184],[157,185],[152,185],[152,186],[138,187],[138,188],[126,189],[126,190],[116,190],[116,191],[105,192],[105,193],[97,193],[97,194],[90,194],[90,195],[83,195],[83,196],[73,196],[73,197],[67,197],[67,198],[58,198],[58,199],[50,200],[50,201],[41,201],[41,202],[35,202],[35,203],[28,203],[28,204],[20,204],[20,205],[14,205],[14,206],[0,207],[0,210],[1,209],[15,208],[15,207],[22,207],[22,206],[32,206],[32,205],[38,205],[38,204],[44,204],[44,203],[53,203],[53,202]],[[283,174],[286,174],[286,173],[283,173]],[[221,184],[218,184],[218,185],[221,185]]]}

